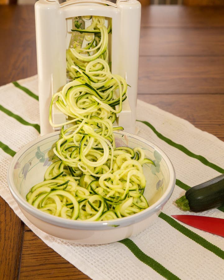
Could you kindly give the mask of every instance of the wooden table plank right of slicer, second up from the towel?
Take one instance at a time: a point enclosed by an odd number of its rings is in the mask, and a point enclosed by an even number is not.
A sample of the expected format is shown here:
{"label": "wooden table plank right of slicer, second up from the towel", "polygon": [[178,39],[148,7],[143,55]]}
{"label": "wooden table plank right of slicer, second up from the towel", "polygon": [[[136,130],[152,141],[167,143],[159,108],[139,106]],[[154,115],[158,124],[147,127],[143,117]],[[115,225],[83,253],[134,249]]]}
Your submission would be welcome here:
{"label": "wooden table plank right of slicer, second up from the towel", "polygon": [[224,56],[140,57],[139,93],[222,93]]}

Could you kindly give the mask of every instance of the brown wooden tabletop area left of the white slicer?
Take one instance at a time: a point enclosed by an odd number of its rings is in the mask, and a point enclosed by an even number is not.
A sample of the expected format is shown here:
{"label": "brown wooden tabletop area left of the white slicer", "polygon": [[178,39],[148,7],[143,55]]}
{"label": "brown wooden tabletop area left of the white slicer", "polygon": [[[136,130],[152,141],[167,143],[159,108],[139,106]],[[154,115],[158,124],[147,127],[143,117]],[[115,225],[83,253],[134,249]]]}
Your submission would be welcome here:
{"label": "brown wooden tabletop area left of the white slicer", "polygon": [[1,6],[0,26],[0,86],[37,74],[34,6]]}

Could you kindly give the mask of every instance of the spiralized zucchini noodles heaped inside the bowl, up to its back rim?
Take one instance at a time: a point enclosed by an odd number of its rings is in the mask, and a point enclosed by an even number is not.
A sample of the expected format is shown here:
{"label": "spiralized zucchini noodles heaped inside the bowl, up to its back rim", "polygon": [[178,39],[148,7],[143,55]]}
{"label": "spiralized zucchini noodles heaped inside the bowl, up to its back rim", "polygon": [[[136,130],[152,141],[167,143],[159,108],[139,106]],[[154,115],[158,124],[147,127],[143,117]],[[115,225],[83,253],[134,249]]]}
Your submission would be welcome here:
{"label": "spiralized zucchini noodles heaped inside the bowl, up to its back rim", "polygon": [[[64,135],[64,134],[63,134]],[[84,124],[61,135],[44,181],[26,195],[43,212],[72,220],[104,221],[146,209],[143,164],[153,164],[139,147],[115,147]]]}

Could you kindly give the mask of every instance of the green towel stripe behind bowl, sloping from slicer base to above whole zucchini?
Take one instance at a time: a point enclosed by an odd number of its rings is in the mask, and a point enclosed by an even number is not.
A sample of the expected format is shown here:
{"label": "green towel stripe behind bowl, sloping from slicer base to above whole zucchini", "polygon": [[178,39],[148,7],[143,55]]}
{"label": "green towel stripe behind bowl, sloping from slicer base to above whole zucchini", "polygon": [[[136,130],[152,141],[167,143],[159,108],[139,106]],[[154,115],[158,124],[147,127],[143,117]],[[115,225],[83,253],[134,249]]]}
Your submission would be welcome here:
{"label": "green towel stripe behind bowl, sloping from slicer base to above whole zucchini", "polygon": [[212,169],[220,172],[220,173],[224,173],[224,169],[220,166],[217,166],[216,164],[208,161],[205,157],[203,156],[200,156],[200,155],[196,155],[194,154],[193,152],[189,151],[186,147],[184,147],[183,145],[181,144],[178,144],[178,143],[175,143],[173,142],[171,139],[167,138],[166,136],[163,136],[161,133],[159,133],[156,128],[154,128],[152,126],[152,124],[148,123],[147,121],[141,121],[141,120],[138,120],[139,122],[143,123],[143,124],[146,124],[149,128],[152,129],[152,131],[163,141],[165,141],[167,144],[169,144],[170,146],[173,146],[177,149],[179,149],[180,151],[182,151],[183,153],[185,153],[186,155],[190,156],[190,157],[193,157],[199,161],[201,161],[204,165],[208,166],[208,167],[211,167]]}

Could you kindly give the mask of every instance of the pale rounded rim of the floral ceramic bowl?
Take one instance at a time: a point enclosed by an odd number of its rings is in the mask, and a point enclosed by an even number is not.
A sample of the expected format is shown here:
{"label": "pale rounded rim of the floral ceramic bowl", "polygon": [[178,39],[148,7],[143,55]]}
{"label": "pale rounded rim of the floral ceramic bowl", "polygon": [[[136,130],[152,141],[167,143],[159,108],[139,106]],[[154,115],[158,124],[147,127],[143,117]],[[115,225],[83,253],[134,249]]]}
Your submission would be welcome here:
{"label": "pale rounded rim of the floral ceramic bowl", "polygon": [[[37,144],[40,141],[43,141],[47,138],[52,138],[56,135],[60,134],[60,130],[48,133],[46,135],[40,136],[31,142],[27,143],[24,147],[22,147],[16,154],[13,156],[7,170],[7,182],[9,186],[9,190],[19,205],[20,208],[24,209],[26,212],[28,212],[30,215],[33,215],[35,218],[38,218],[44,222],[48,222],[50,224],[53,224],[55,226],[60,226],[63,228],[69,228],[69,229],[79,229],[79,230],[108,230],[108,229],[115,229],[116,227],[124,227],[129,226],[133,223],[140,222],[147,217],[149,217],[151,214],[154,214],[161,210],[163,205],[168,201],[171,194],[173,193],[174,187],[175,187],[175,170],[173,167],[172,162],[170,161],[169,157],[166,155],[161,148],[156,146],[154,143],[150,142],[149,140],[142,138],[138,135],[135,135],[133,133],[128,133],[124,131],[114,131],[114,134],[121,134],[121,135],[129,135],[130,138],[135,138],[138,141],[146,143],[148,146],[152,147],[156,151],[158,151],[163,159],[166,162],[166,165],[169,170],[170,175],[170,181],[167,186],[166,191],[164,194],[159,198],[155,203],[153,203],[148,208],[142,210],[141,212],[135,213],[133,215],[130,215],[128,217],[122,217],[115,220],[109,220],[109,221],[78,221],[78,220],[69,220],[64,219],[61,217],[56,217],[54,215],[45,213],[40,211],[39,209],[35,208],[31,204],[29,204],[22,196],[19,194],[19,191],[16,189],[16,186],[13,181],[13,166],[15,166],[17,160],[26,152],[26,150],[33,145]],[[116,136],[116,135],[115,135]],[[21,210],[22,210],[21,209]],[[32,221],[30,221],[32,223]]]}

